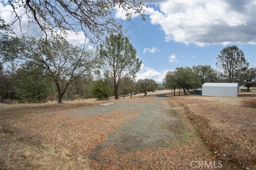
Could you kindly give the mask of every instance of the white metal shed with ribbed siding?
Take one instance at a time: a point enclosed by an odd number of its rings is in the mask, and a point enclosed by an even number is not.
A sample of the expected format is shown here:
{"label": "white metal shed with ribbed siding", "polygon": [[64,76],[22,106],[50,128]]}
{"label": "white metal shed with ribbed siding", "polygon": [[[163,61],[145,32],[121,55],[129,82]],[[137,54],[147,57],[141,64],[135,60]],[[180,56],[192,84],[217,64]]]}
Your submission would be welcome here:
{"label": "white metal shed with ribbed siding", "polygon": [[238,83],[204,83],[202,96],[237,97]]}

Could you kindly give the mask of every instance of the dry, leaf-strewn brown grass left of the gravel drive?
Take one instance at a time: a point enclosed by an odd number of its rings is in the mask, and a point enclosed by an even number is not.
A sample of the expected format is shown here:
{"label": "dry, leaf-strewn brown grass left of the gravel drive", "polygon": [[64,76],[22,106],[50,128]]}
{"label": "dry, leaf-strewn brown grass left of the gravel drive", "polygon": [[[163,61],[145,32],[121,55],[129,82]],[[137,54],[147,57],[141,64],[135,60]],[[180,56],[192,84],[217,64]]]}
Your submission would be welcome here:
{"label": "dry, leaf-strewn brown grass left of the gravel drive", "polygon": [[90,169],[88,151],[136,116],[112,112],[86,118],[66,113],[95,104],[2,105],[1,169]]}

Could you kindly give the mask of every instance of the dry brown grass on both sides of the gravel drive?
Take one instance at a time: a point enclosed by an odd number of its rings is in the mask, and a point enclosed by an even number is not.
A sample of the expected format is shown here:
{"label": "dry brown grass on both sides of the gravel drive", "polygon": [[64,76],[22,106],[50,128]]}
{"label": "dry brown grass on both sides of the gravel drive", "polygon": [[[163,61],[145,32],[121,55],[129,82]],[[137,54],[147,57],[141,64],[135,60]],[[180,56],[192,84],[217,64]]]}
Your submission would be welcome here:
{"label": "dry brown grass on both sides of the gravel drive", "polygon": [[[251,97],[256,100],[256,92],[239,92],[238,96],[189,95],[167,100],[190,119],[213,159],[228,162],[230,169],[234,165],[236,169],[252,170],[256,169],[256,108],[241,106],[239,101]],[[118,102],[126,100],[134,99]],[[0,169],[95,169],[88,152],[108,141],[107,135],[116,127],[137,116],[118,111],[93,117],[66,115],[67,110],[99,103],[1,104]]]}

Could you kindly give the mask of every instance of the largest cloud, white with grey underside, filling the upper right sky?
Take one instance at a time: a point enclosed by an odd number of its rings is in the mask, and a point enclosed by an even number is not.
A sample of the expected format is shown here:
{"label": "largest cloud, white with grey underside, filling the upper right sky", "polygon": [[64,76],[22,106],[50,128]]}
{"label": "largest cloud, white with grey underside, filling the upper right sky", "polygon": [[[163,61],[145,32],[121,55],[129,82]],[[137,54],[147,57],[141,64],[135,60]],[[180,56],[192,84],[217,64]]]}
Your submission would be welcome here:
{"label": "largest cloud, white with grey underside, filling the upper right sky", "polygon": [[165,0],[157,7],[145,8],[145,14],[160,25],[166,41],[197,46],[256,44],[256,0]]}

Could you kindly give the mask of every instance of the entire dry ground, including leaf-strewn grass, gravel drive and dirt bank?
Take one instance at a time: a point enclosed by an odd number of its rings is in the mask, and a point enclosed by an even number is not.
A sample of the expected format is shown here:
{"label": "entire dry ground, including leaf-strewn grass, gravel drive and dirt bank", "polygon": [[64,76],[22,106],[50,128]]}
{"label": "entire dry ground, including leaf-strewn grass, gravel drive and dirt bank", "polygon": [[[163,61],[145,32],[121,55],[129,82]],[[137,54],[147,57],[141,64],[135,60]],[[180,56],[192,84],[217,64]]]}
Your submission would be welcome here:
{"label": "entire dry ground, including leaf-strewn grass, gravel drive and dirt bank", "polygon": [[190,169],[197,159],[256,169],[256,109],[239,102],[256,93],[239,96],[1,104],[0,167]]}

